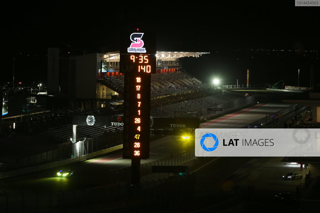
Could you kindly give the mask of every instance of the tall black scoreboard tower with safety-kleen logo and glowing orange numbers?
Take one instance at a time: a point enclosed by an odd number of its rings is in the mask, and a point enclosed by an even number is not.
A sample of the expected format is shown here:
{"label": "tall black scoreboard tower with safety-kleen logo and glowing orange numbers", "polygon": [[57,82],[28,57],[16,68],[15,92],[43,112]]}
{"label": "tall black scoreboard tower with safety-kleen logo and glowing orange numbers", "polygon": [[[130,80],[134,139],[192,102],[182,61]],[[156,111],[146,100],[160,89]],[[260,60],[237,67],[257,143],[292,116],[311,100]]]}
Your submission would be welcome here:
{"label": "tall black scoreboard tower with safety-kleen logo and glowing orange numbers", "polygon": [[154,33],[124,33],[120,72],[124,73],[124,159],[147,159],[150,152],[150,84],[156,73]]}

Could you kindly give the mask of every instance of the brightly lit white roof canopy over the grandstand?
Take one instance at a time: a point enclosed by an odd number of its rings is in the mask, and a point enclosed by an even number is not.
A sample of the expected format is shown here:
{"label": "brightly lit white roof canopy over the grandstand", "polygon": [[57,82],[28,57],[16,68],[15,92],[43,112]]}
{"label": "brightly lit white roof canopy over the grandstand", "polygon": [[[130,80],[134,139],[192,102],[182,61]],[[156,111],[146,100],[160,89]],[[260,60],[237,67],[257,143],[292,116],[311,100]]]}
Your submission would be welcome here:
{"label": "brightly lit white roof canopy over the grandstand", "polygon": [[[200,57],[204,54],[209,54],[210,52],[166,52],[166,51],[157,51],[156,59],[173,59],[173,58],[182,58],[182,57]],[[110,52],[110,53],[99,53],[104,59],[119,59],[120,51]]]}

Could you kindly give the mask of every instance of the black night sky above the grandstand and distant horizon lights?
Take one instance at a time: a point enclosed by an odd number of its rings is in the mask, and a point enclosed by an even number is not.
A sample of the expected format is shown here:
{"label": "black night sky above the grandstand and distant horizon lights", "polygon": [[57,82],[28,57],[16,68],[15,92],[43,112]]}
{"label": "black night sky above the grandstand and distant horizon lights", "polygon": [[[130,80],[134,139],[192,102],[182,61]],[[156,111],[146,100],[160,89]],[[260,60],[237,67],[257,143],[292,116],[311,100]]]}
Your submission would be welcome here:
{"label": "black night sky above the grandstand and distant horizon lights", "polygon": [[[319,7],[286,2],[7,5],[2,13],[1,83],[12,82],[13,58],[16,83],[45,84],[48,47],[117,51],[121,31],[139,27],[140,32],[156,32],[159,51],[210,52],[183,59],[184,68],[201,80],[216,76],[222,84],[236,84],[236,79],[243,84],[250,69],[252,84],[284,80],[285,85],[297,86],[300,69],[300,86],[310,86],[310,65],[315,79],[319,72],[317,52],[310,53],[320,50]],[[265,50],[284,51],[278,56]]]}

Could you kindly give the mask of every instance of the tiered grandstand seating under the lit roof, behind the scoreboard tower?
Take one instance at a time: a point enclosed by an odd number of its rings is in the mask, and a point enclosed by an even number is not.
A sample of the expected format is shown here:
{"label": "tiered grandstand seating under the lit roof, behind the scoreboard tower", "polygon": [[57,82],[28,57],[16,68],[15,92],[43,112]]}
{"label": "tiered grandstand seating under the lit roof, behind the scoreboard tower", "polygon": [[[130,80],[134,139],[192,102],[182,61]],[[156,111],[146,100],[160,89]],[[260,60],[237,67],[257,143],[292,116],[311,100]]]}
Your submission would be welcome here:
{"label": "tiered grandstand seating under the lit roof, behind the scoreboard tower", "polygon": [[[123,92],[123,75],[104,76],[103,79],[105,85],[117,88],[117,93]],[[151,74],[150,91],[152,117],[174,117],[177,111],[198,112],[242,97],[235,93],[222,94],[222,90],[212,90],[183,69]]]}

